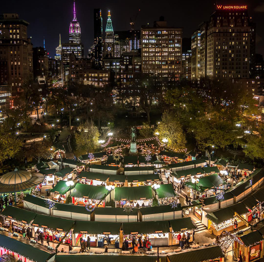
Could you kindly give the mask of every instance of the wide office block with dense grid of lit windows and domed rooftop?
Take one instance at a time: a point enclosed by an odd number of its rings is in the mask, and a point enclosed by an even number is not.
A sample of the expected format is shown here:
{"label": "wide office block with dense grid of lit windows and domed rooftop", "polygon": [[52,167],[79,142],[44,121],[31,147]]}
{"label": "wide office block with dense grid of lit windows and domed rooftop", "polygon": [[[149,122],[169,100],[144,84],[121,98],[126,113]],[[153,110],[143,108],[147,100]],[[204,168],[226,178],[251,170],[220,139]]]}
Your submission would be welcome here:
{"label": "wide office block with dense grid of lit windows and domed rooftop", "polygon": [[181,44],[182,28],[168,26],[164,17],[154,22],[154,27],[142,26],[142,72],[178,80],[181,74]]}

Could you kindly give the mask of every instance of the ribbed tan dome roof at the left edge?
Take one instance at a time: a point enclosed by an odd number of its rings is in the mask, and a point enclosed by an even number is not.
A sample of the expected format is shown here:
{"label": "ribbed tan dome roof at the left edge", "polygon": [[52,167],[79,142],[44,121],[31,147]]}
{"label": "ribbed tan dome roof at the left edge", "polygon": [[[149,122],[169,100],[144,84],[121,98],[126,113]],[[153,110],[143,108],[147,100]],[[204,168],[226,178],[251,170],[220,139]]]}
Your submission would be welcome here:
{"label": "ribbed tan dome roof at the left edge", "polygon": [[14,171],[3,175],[0,179],[0,183],[4,185],[16,185],[28,181],[31,177],[32,175],[28,171],[18,170],[16,168]]}

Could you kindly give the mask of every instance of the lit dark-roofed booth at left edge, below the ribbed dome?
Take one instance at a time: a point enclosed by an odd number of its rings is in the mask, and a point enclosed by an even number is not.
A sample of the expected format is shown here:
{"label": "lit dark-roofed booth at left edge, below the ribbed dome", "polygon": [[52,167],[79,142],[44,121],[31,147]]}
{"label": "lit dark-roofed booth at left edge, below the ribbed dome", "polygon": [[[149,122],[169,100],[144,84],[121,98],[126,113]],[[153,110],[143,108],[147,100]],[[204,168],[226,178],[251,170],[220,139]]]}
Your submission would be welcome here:
{"label": "lit dark-roofed booth at left edge, below the ribbed dome", "polygon": [[4,218],[3,227],[9,228],[12,225],[12,231],[22,234],[22,229],[31,227],[31,221],[36,217],[36,213],[13,207],[6,206],[6,208],[1,212],[1,216]]}

